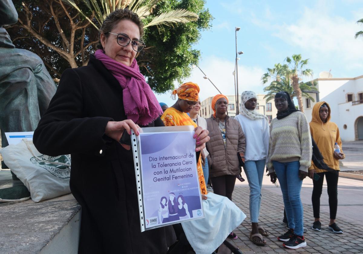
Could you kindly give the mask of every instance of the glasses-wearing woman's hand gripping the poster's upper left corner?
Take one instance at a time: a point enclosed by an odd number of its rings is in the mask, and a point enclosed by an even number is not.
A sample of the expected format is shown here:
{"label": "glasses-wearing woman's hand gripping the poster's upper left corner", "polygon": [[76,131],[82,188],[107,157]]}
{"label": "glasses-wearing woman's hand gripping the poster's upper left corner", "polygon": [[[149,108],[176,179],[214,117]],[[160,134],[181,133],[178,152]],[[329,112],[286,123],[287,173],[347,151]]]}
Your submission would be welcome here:
{"label": "glasses-wearing woman's hand gripping the poster's upper left corner", "polygon": [[[138,128],[140,128],[137,124],[132,122],[132,120],[127,119],[120,122],[109,121],[105,128],[105,134],[109,136],[111,139],[119,140],[122,137],[123,131],[126,130],[128,134],[131,135],[131,129],[134,130],[136,135],[139,135]],[[121,144],[123,148],[130,150],[130,146],[125,144]]]}

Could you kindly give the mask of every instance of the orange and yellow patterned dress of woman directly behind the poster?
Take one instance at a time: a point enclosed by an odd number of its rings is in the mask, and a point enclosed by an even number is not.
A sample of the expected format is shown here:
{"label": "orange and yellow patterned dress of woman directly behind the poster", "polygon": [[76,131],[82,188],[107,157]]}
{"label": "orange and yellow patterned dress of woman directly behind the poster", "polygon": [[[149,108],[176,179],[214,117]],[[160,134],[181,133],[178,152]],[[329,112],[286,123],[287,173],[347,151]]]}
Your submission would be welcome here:
{"label": "orange and yellow patterned dress of woman directly behind the poster", "polygon": [[[161,119],[163,120],[165,126],[192,125],[194,127],[197,127],[196,123],[193,122],[193,120],[187,114],[179,110],[176,110],[173,107],[170,107],[167,110],[165,110],[164,114],[161,116]],[[201,157],[199,157],[197,163],[197,171],[198,171],[200,191],[202,194],[207,194],[207,187],[205,186]]]}

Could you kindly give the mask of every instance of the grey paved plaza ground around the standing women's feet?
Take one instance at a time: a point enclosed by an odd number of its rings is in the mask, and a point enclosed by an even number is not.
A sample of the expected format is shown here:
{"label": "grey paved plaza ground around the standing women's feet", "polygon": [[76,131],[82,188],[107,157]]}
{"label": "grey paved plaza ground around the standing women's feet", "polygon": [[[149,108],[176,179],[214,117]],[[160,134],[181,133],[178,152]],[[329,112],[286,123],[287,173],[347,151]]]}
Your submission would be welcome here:
{"label": "grey paved plaza ground around the standing women's feet", "polygon": [[[244,179],[247,179],[242,172]],[[329,223],[329,205],[326,193],[326,183],[321,197],[321,232],[311,229],[313,223],[313,207],[311,205],[311,192],[313,183],[311,179],[303,181],[301,197],[304,207],[304,224],[309,229],[305,233],[307,247],[298,250],[286,249],[277,236],[286,232],[284,217],[284,204],[280,187],[276,187],[264,176],[262,188],[262,202],[260,211],[260,225],[270,233],[266,246],[254,245],[249,240],[249,187],[247,180],[241,183],[237,180],[233,192],[233,201],[247,215],[247,218],[234,231],[238,239],[231,240],[245,254],[261,253],[363,253],[363,181],[339,178],[338,184],[338,214],[337,224],[343,230],[343,234],[334,234],[327,228]]]}

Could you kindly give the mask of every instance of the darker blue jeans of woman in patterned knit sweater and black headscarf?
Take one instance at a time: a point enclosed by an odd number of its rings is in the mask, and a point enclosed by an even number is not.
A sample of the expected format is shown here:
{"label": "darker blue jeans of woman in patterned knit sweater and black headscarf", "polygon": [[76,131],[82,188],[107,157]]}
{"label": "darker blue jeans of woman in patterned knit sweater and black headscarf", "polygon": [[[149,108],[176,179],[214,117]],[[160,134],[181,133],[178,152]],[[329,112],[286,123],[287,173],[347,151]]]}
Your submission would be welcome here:
{"label": "darker blue jeans of woman in patterned knit sweater and black headscarf", "polygon": [[272,161],[286,210],[287,224],[297,235],[303,235],[303,208],[300,198],[302,180],[299,177],[299,161]]}

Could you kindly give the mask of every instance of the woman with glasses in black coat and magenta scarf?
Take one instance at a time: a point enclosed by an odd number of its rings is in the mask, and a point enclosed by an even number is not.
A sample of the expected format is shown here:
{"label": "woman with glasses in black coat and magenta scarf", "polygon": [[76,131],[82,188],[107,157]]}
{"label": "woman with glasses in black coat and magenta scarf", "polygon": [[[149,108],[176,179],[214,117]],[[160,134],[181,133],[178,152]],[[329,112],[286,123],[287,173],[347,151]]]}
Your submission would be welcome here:
{"label": "woman with glasses in black coat and magenta scarf", "polygon": [[[100,29],[87,66],[67,69],[34,132],[47,155],[71,154],[70,188],[82,206],[79,253],[166,253],[171,226],[140,232],[130,129],[164,126],[163,111],[135,60],[143,25],[117,9]],[[197,150],[209,140],[196,128]],[[121,139],[122,138],[122,139]],[[123,142],[123,144],[120,144]]]}

